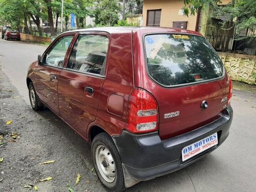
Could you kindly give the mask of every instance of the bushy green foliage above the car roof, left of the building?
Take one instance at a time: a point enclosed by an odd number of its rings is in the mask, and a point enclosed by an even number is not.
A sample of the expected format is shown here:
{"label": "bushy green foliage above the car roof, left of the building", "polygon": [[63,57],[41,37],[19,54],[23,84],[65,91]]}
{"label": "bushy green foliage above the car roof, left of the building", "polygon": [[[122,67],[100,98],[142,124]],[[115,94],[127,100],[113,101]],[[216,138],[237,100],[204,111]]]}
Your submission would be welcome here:
{"label": "bushy green foliage above the car roof, left of the building", "polygon": [[95,24],[114,26],[119,20],[122,7],[118,0],[98,0],[93,4]]}

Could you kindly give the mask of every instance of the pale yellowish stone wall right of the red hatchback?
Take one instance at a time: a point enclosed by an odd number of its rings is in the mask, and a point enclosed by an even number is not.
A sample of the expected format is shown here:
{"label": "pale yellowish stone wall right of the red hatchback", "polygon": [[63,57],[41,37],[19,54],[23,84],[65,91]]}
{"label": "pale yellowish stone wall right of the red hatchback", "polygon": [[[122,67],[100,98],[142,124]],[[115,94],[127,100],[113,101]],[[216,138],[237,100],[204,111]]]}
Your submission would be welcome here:
{"label": "pale yellowish stone wall right of the red hatchback", "polygon": [[[256,84],[256,56],[218,52],[232,80]],[[254,74],[254,76],[253,76]]]}

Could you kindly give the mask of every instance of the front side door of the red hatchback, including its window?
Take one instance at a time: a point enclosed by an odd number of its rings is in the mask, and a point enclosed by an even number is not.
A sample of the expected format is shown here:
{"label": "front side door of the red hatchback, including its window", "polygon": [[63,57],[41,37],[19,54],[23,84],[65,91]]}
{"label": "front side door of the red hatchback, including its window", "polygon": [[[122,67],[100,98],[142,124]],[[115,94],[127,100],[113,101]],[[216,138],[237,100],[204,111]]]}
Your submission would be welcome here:
{"label": "front side door of the red hatchback, including its window", "polygon": [[66,35],[58,38],[44,53],[36,72],[39,98],[58,115],[58,77],[73,37],[74,35]]}

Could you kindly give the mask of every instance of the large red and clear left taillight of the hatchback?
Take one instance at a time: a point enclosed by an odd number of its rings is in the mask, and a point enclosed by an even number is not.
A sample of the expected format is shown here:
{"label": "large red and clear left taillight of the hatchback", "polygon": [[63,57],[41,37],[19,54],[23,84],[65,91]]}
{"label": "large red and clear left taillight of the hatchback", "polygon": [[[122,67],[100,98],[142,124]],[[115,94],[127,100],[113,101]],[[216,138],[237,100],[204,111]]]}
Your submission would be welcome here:
{"label": "large red and clear left taillight of the hatchback", "polygon": [[132,133],[147,133],[158,129],[157,102],[150,93],[139,88],[132,91],[125,129]]}

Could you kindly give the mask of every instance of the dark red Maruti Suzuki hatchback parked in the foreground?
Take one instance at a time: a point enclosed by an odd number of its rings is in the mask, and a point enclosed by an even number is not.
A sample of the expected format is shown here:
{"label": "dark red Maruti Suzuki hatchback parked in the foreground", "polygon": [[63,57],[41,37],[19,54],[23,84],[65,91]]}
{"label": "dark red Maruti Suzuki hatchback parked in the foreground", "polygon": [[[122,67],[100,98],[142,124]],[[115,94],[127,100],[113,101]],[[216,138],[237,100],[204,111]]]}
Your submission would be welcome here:
{"label": "dark red Maruti Suzuki hatchback parked in the foreground", "polygon": [[62,33],[28,71],[33,110],[48,106],[91,143],[111,191],[215,150],[232,121],[232,82],[204,37],[172,28]]}

